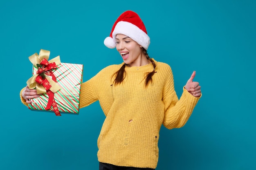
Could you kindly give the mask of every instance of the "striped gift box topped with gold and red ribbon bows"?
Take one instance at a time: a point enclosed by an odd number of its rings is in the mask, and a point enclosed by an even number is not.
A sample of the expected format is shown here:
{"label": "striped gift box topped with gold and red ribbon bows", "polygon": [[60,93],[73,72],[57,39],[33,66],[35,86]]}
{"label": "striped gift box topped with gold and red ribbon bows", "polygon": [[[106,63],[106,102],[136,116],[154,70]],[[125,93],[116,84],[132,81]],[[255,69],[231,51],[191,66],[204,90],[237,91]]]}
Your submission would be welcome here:
{"label": "striped gift box topped with gold and red ribbon bows", "polygon": [[49,51],[46,50],[29,57],[33,63],[33,76],[27,85],[36,88],[40,94],[40,97],[31,99],[29,109],[53,111],[57,116],[61,113],[79,113],[83,64],[62,63],[59,58],[57,56],[47,61]]}

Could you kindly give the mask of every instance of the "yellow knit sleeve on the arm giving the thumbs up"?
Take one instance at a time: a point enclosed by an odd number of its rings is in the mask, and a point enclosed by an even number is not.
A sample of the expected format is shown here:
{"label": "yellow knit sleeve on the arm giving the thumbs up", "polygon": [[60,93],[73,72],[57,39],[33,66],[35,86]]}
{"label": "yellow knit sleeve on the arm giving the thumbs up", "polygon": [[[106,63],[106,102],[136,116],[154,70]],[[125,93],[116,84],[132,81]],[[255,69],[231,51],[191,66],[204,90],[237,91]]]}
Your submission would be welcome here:
{"label": "yellow knit sleeve on the arm giving the thumbs up", "polygon": [[181,128],[188,121],[195,105],[202,95],[200,97],[194,97],[183,87],[182,96],[180,97],[180,100],[178,100],[174,90],[171,68],[167,77],[163,95],[163,102],[165,105],[163,125],[168,129]]}

